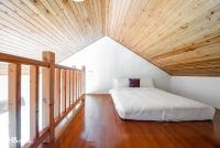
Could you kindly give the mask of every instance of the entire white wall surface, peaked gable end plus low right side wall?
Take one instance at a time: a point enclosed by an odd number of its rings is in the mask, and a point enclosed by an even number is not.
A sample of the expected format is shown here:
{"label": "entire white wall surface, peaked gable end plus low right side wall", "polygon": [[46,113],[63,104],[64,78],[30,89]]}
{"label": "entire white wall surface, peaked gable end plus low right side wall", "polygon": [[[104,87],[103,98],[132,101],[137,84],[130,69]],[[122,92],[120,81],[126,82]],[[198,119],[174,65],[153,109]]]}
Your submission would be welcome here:
{"label": "entire white wall surface, peaked gable end plus low right side wall", "polygon": [[169,76],[108,36],[61,64],[86,65],[87,93],[108,93],[114,77],[153,77],[157,88],[220,108],[220,77]]}

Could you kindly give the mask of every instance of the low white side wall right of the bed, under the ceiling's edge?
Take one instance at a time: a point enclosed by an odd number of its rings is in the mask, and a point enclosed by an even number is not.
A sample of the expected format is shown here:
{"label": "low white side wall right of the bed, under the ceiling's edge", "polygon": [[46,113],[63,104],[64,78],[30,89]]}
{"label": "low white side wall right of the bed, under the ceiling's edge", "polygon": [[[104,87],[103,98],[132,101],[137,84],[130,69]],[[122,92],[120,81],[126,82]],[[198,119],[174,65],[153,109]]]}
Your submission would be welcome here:
{"label": "low white side wall right of the bed, under the ceiling's edge", "polygon": [[170,89],[220,108],[220,77],[172,76]]}

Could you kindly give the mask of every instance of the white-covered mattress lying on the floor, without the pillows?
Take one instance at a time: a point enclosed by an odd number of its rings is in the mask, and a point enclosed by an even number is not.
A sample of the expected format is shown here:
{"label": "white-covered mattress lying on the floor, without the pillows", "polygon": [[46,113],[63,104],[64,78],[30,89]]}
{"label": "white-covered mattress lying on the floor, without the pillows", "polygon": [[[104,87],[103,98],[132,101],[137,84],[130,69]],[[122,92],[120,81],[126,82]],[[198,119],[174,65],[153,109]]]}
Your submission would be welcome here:
{"label": "white-covered mattress lying on the floor, without the pillows", "polygon": [[211,106],[157,88],[114,88],[110,94],[119,116],[123,119],[209,120],[215,115]]}

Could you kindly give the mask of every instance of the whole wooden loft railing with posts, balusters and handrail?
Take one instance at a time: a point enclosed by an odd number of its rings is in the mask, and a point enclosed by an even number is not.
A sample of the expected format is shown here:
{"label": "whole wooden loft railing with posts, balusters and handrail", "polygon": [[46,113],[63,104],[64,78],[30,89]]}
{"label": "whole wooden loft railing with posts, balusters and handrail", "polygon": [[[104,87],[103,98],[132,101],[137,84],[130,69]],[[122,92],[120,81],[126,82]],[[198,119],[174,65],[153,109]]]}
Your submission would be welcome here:
{"label": "whole wooden loft railing with posts, balusters and handrail", "polygon": [[[43,61],[0,53],[9,63],[9,136],[10,147],[21,147],[21,65],[30,65],[30,141],[24,147],[52,142],[55,127],[84,98],[85,67],[77,70],[55,64],[55,54],[43,52]],[[40,67],[42,67],[42,126],[40,119]]]}

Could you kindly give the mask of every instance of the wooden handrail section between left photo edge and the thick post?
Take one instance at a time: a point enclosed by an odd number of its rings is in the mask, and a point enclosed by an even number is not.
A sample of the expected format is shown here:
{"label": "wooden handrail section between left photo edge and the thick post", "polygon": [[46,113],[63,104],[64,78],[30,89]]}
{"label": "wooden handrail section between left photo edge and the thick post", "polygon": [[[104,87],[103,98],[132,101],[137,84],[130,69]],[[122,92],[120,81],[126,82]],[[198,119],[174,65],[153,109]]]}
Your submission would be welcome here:
{"label": "wooden handrail section between left photo edge and the thick post", "polygon": [[36,65],[48,67],[50,63],[44,61],[37,61],[26,57],[21,57],[16,55],[0,53],[0,62],[15,63],[15,64],[26,64],[26,65]]}

